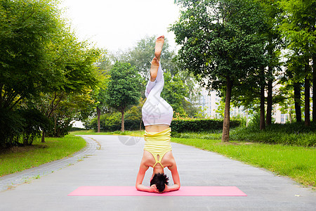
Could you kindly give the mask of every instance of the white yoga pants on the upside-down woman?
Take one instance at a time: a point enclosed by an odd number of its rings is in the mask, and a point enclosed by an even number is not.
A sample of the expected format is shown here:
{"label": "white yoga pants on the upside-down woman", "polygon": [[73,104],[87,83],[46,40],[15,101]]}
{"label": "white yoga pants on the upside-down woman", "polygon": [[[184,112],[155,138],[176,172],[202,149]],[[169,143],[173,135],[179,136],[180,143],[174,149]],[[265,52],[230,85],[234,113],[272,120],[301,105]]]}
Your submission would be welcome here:
{"label": "white yoga pants on the upside-down woman", "polygon": [[146,86],[145,96],[147,97],[147,100],[142,108],[143,122],[145,126],[153,124],[171,124],[173,109],[169,103],[160,96],[162,89],[164,89],[164,74],[162,72],[162,65],[159,62],[156,80],[151,82],[149,79]]}

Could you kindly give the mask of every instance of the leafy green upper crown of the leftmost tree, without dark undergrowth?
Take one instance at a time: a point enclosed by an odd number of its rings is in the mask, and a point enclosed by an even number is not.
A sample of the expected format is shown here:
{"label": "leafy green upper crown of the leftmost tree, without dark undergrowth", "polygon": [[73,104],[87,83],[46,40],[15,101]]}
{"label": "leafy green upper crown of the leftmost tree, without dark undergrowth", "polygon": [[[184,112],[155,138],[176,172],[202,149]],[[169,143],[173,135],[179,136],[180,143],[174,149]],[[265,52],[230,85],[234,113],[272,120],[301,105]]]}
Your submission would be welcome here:
{"label": "leafy green upper crown of the leftmost tree, without dark undergrowth", "polygon": [[[52,4],[51,4],[52,3]],[[54,74],[46,46],[60,29],[52,1],[0,1],[0,107],[36,96]]]}

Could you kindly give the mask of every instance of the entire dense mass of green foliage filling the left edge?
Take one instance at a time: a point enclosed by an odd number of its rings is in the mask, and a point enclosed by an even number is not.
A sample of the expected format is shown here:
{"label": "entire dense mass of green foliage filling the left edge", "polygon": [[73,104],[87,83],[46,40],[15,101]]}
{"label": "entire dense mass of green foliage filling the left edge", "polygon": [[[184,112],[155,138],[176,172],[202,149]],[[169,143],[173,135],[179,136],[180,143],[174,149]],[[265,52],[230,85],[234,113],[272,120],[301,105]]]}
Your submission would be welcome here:
{"label": "entire dense mass of green foliage filling the left edge", "polygon": [[90,98],[88,89],[98,83],[94,63],[100,50],[78,41],[60,18],[58,4],[55,0],[0,1],[0,110],[15,113],[12,118],[3,114],[12,123],[1,122],[3,143],[15,145],[20,139],[32,143],[40,132],[51,129],[39,124],[43,115],[53,118],[54,136],[66,134],[61,128],[69,127],[74,118],[90,115],[89,100],[84,98]]}

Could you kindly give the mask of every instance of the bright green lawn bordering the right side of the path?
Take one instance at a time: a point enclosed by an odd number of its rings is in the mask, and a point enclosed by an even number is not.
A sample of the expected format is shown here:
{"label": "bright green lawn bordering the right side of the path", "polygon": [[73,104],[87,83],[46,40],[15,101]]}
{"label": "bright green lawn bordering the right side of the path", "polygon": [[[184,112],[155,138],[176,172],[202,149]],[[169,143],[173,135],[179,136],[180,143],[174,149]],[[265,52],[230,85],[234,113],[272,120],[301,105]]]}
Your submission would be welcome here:
{"label": "bright green lawn bordering the right side of the path", "polygon": [[305,186],[315,187],[315,148],[238,141],[223,144],[220,140],[206,139],[171,138],[171,141],[220,153],[255,167],[263,167],[275,174],[290,177]]}

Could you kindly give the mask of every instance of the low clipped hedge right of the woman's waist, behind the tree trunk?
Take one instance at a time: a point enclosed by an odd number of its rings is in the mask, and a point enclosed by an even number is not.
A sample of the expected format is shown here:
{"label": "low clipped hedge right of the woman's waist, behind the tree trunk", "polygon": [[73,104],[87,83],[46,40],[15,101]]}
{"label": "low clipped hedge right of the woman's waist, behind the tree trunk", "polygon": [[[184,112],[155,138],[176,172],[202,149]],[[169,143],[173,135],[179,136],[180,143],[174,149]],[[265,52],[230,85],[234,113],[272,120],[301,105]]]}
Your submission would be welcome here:
{"label": "low clipped hedge right of the woman's waist, behind the tree trunk", "polygon": [[[240,120],[230,120],[230,128],[238,127]],[[171,129],[173,132],[204,132],[223,129],[223,120],[215,119],[183,119],[172,120]]]}

